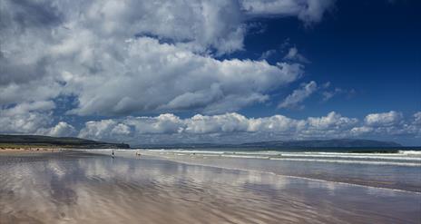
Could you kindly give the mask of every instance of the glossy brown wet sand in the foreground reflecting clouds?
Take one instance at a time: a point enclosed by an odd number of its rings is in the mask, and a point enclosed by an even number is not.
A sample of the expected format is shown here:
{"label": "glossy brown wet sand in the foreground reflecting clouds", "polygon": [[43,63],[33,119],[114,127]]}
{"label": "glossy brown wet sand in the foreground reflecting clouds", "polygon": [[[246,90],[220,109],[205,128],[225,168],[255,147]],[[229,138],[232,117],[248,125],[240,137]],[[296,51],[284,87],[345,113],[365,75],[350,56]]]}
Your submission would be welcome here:
{"label": "glossy brown wet sand in the foreground reflecting clouds", "polygon": [[0,156],[0,223],[421,223],[421,194],[83,152]]}

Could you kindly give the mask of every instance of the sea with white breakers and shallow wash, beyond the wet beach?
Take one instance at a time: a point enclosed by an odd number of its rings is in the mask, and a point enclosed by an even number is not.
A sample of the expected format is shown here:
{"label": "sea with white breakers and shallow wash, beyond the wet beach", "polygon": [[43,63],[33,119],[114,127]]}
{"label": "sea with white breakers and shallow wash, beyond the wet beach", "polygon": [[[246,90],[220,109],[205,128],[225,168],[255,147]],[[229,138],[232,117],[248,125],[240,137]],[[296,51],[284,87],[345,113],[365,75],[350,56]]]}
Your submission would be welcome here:
{"label": "sea with white breakers and shallow wash, beyond the wet beach", "polygon": [[[103,151],[107,153],[108,151]],[[164,160],[421,193],[421,151],[338,153],[285,151],[144,150]],[[132,151],[119,151],[132,155]],[[280,154],[280,156],[279,156]]]}

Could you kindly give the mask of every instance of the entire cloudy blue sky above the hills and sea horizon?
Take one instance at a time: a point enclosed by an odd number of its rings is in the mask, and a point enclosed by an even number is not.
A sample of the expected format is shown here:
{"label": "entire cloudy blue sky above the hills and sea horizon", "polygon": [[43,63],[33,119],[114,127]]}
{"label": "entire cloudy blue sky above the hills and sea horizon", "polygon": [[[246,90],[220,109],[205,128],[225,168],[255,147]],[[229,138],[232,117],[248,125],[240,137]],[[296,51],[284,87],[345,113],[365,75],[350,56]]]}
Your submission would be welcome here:
{"label": "entire cloudy blue sky above the hills and sea horizon", "polygon": [[419,146],[420,6],[3,0],[0,133]]}

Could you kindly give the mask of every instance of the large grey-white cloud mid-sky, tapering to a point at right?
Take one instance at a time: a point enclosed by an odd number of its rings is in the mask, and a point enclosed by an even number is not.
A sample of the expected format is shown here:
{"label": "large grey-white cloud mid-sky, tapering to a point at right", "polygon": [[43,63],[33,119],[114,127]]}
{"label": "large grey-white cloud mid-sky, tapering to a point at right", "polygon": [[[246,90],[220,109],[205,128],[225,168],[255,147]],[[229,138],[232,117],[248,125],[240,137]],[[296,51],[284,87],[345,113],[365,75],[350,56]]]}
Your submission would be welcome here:
{"label": "large grey-white cloud mid-sky, tapering to a point at right", "polygon": [[303,73],[298,63],[219,61],[149,37],[132,39],[125,51],[124,63],[104,58],[109,68],[101,75],[64,74],[67,88],[78,95],[74,113],[233,112],[266,101],[269,90]]}

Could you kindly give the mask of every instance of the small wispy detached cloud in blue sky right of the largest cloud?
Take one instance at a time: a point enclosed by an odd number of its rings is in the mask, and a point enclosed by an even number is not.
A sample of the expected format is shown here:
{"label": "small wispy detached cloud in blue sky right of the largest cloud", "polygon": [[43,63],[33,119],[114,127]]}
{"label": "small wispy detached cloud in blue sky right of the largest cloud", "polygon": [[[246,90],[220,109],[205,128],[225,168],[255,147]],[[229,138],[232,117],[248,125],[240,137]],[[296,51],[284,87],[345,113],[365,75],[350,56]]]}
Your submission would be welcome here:
{"label": "small wispy detached cloud in blue sky right of the largest cloud", "polygon": [[[297,108],[300,102],[303,102],[312,93],[318,90],[318,84],[314,81],[310,83],[302,83],[301,87],[291,94],[289,94],[282,102],[279,103],[279,108]],[[302,108],[303,106],[301,106]]]}

